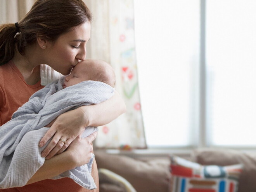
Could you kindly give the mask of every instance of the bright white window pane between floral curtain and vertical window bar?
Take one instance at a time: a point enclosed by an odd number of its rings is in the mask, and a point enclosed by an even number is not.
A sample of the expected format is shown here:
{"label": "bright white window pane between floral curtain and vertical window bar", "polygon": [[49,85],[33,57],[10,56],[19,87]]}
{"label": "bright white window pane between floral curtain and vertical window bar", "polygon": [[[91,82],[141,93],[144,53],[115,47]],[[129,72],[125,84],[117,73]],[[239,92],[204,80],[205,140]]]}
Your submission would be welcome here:
{"label": "bright white window pane between floral curtain and vertical window bar", "polygon": [[138,78],[149,146],[194,145],[200,1],[134,1]]}

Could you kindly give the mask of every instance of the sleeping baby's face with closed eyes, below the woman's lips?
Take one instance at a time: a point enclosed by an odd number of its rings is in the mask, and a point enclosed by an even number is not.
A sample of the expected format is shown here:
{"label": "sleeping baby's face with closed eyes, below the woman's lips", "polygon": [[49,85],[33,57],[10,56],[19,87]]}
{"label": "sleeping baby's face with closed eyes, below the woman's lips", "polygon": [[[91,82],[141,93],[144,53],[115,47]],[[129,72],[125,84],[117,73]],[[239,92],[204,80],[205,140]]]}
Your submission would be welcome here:
{"label": "sleeping baby's face with closed eyes, below the woman's lips", "polygon": [[87,81],[88,77],[85,73],[85,65],[82,62],[78,63],[71,73],[65,77],[65,81],[63,83],[63,88],[66,88],[71,85],[75,85],[82,81]]}

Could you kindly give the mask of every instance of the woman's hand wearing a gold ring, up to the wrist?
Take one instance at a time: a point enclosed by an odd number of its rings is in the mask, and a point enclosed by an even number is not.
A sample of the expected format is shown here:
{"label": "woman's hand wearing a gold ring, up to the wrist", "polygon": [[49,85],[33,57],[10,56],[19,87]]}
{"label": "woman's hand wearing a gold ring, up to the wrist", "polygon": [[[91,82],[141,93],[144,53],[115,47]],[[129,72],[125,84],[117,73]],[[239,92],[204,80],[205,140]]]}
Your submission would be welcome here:
{"label": "woman's hand wearing a gold ring, up to the wrist", "polygon": [[[39,146],[43,147],[52,137],[47,147],[42,151],[42,157],[50,159],[55,154],[63,152],[78,135],[88,126],[88,119],[83,110],[79,108],[67,111],[50,123],[50,129],[41,139]],[[63,140],[63,142],[61,140]]]}

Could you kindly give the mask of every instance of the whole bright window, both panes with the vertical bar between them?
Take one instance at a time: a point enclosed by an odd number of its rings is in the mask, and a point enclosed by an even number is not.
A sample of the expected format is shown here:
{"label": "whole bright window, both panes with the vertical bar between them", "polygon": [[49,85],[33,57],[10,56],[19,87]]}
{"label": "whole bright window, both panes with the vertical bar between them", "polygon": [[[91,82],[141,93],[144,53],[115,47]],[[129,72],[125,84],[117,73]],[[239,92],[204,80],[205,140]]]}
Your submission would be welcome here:
{"label": "whole bright window, both panes with the vertical bar between them", "polygon": [[255,146],[256,2],[134,1],[149,147]]}

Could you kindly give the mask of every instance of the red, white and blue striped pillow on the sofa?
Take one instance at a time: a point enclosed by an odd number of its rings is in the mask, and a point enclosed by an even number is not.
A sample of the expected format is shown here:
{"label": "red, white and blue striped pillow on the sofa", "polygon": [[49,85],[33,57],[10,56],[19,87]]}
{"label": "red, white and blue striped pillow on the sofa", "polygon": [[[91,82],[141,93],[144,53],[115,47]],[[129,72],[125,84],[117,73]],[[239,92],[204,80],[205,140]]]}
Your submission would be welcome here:
{"label": "red, white and blue striped pillow on the sofa", "polygon": [[242,166],[202,166],[173,156],[171,192],[236,192]]}

